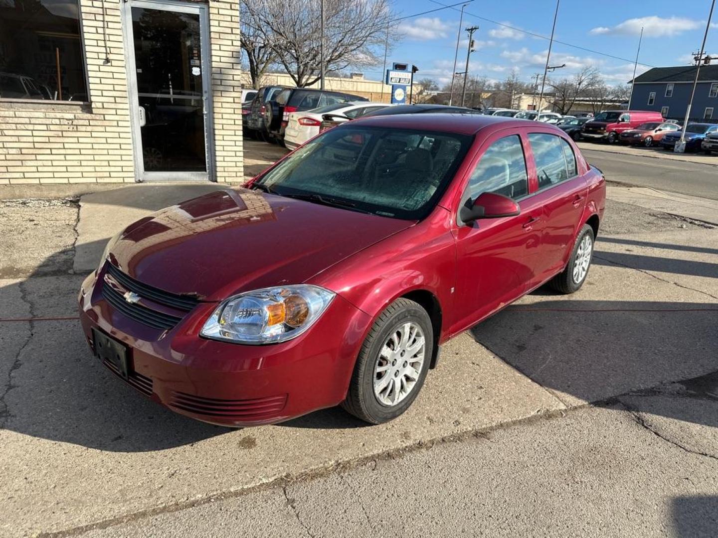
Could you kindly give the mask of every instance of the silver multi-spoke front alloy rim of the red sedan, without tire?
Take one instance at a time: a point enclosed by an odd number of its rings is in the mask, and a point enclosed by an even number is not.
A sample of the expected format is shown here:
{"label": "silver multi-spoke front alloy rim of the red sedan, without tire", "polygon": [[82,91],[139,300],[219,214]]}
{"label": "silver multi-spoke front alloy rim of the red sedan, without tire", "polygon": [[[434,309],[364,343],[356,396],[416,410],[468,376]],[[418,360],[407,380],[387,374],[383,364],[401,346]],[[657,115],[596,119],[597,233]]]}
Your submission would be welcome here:
{"label": "silver multi-spoke front alloy rim of the red sedan, without tire", "polygon": [[374,364],[374,395],[391,407],[409,396],[419,381],[426,355],[424,331],[413,321],[391,331]]}

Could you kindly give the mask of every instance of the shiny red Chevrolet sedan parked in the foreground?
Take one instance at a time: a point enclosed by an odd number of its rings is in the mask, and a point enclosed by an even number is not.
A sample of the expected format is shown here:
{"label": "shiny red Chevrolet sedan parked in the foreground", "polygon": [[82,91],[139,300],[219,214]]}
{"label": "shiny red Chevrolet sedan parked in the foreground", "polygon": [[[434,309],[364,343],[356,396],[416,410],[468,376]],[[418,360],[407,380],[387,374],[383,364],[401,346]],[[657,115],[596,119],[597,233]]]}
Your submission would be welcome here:
{"label": "shiny red Chevrolet sedan parked in the foreground", "polygon": [[113,237],[80,319],[103,364],[184,415],[341,404],[383,423],[447,339],[546,282],[577,291],[604,203],[601,172],[546,123],[359,119]]}

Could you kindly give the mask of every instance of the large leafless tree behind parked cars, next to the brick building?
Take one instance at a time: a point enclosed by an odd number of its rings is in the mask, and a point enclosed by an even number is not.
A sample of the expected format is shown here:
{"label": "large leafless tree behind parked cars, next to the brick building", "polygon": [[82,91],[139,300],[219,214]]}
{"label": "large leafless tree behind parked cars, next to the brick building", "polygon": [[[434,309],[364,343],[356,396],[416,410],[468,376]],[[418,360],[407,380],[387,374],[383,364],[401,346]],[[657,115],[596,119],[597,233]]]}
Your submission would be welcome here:
{"label": "large leafless tree behind parked cars, next to the brick building", "polygon": [[[320,0],[245,1],[248,24],[264,34],[276,60],[300,88],[321,77]],[[324,0],[325,70],[376,65],[387,29],[393,27],[389,0]]]}

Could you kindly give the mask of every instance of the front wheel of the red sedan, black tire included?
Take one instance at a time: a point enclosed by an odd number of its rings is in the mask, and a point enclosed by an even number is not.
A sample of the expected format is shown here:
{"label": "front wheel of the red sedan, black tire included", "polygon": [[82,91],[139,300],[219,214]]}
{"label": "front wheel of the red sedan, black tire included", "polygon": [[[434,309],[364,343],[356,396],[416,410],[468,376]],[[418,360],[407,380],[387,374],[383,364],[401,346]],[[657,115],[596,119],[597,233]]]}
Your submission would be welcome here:
{"label": "front wheel of the red sedan, black tire included", "polygon": [[[406,327],[409,331],[406,331]],[[424,357],[421,365],[417,367],[417,362],[409,363],[409,361],[401,361],[404,355],[397,354],[396,357],[382,351],[389,349],[397,349],[397,353],[401,350],[401,335],[409,334],[411,338],[411,329],[418,328],[424,335]],[[404,331],[404,332],[401,332]],[[414,339],[409,339],[404,347],[411,349],[419,344],[416,338],[418,331],[414,332]],[[421,387],[426,379],[426,373],[429,372],[429,363],[432,359],[432,351],[434,347],[434,331],[432,329],[432,321],[429,314],[419,303],[410,301],[409,299],[399,298],[379,315],[374,322],[368,336],[362,344],[359,356],[354,366],[354,372],[349,382],[349,390],[347,397],[342,402],[342,407],[360,420],[364,420],[370,424],[381,424],[392,420],[404,411],[416,399]],[[415,353],[418,358],[419,351]],[[393,362],[392,362],[393,359]],[[404,364],[407,364],[407,370],[404,370]],[[409,371],[409,367],[414,364],[414,372],[417,374],[404,373]],[[377,371],[377,368],[385,368]],[[382,377],[377,377],[383,372]],[[394,372],[394,374],[392,374]],[[411,377],[416,379],[411,380]],[[388,379],[386,385],[375,390],[375,382],[381,385],[383,379]],[[396,379],[400,389],[396,392]],[[409,383],[411,388],[409,388]],[[402,396],[402,391],[405,390]],[[377,392],[379,395],[377,395]],[[391,403],[396,399],[396,403]],[[382,401],[383,400],[383,401]]]}

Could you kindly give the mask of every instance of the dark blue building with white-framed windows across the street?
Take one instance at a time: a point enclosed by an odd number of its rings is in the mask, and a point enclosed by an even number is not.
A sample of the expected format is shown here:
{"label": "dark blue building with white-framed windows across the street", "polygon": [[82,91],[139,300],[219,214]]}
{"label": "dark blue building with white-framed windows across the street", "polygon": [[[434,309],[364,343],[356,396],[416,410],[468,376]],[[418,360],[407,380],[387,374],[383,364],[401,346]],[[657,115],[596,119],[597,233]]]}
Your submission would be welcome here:
{"label": "dark blue building with white-framed windows across the street", "polygon": [[[633,81],[629,110],[656,110],[684,121],[696,78],[696,66],[654,67]],[[718,123],[718,65],[701,65],[691,121]]]}

